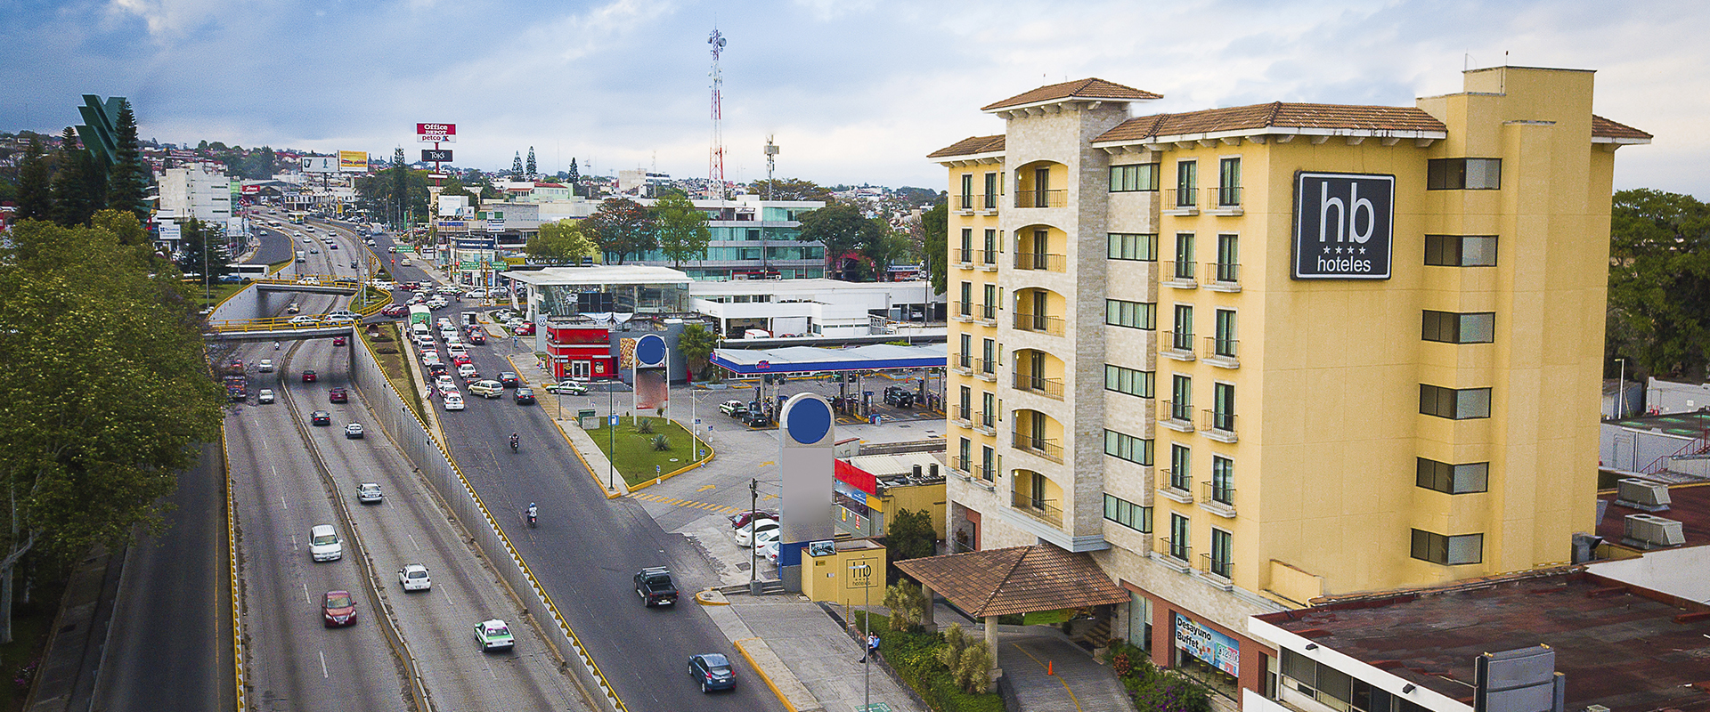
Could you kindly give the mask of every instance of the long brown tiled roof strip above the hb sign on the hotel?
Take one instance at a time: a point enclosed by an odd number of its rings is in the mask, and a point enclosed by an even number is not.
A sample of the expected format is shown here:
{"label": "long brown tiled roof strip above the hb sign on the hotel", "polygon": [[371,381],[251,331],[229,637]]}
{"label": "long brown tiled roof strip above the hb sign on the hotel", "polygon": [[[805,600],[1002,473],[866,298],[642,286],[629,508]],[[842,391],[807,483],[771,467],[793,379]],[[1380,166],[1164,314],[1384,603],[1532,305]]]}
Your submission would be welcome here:
{"label": "long brown tiled roof strip above the hb sign on the hotel", "polygon": [[1407,106],[1271,104],[1153,114],[1127,120],[1093,142],[1146,140],[1255,128],[1320,128],[1356,131],[1447,131],[1431,114]]}

